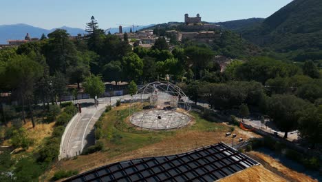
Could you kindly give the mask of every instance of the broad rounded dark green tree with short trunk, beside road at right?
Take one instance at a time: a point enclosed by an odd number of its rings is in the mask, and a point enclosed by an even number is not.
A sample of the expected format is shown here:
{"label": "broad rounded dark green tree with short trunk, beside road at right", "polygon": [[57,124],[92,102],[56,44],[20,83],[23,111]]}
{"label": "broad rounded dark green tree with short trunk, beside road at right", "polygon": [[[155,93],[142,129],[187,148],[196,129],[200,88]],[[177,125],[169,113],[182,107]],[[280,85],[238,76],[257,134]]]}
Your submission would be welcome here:
{"label": "broad rounded dark green tree with short trunk, beside road at right", "polygon": [[281,132],[285,132],[284,139],[288,137],[288,132],[297,128],[299,112],[308,103],[289,94],[275,94],[267,103],[267,113]]}

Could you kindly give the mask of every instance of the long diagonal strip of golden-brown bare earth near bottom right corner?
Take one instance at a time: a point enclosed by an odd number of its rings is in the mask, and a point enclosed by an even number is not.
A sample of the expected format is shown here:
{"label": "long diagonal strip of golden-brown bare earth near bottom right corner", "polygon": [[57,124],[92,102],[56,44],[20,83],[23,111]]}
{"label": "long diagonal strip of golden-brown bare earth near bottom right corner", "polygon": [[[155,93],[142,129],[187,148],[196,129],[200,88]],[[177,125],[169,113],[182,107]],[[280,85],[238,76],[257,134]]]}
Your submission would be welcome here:
{"label": "long diagonal strip of golden-brown bare earth near bottom right corner", "polygon": [[248,155],[250,155],[251,157],[253,157],[257,161],[262,163],[265,166],[265,168],[268,168],[271,171],[273,171],[281,176],[285,176],[285,178],[290,181],[298,181],[298,182],[316,181],[316,180],[310,178],[310,176],[306,176],[303,173],[299,173],[294,170],[291,170],[290,168],[287,168],[283,164],[279,163],[279,161],[276,161],[275,159],[273,159],[272,157],[270,157],[266,154],[252,151],[252,152],[248,152]]}

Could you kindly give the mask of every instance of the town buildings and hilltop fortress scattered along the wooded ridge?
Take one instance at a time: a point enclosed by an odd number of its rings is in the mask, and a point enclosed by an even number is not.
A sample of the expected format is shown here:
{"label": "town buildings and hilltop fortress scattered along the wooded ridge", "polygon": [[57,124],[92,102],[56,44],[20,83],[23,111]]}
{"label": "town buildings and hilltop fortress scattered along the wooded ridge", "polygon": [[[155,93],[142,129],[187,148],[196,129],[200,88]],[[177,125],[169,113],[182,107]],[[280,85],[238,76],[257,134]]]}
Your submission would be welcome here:
{"label": "town buildings and hilltop fortress scattered along the wooded ridge", "polygon": [[[202,23],[202,18],[200,14],[197,14],[197,17],[189,17],[189,14],[184,14],[184,30],[192,30],[187,32],[179,32],[176,30],[167,31],[167,34],[171,34],[172,37],[175,37],[176,41],[183,41],[183,40],[193,40],[203,43],[209,43],[214,39],[218,39],[220,34],[214,31],[204,31],[204,30],[213,30],[218,28],[215,24],[205,24]],[[124,40],[124,33],[122,30],[122,26],[119,27],[118,33],[115,34],[116,36],[120,37],[120,39]],[[153,30],[141,30],[136,32],[127,32],[127,37],[129,39],[129,44],[133,45],[140,45],[144,48],[151,48],[151,46],[155,43],[155,40],[158,37],[153,34]],[[77,36],[71,36],[70,39],[83,39],[82,34],[78,34]],[[167,41],[169,39],[166,37]],[[0,45],[0,48],[11,47],[11,46],[18,46],[22,43],[27,43],[29,41],[38,41],[38,38],[31,38],[30,35],[27,33],[24,40],[8,40],[8,44]]]}

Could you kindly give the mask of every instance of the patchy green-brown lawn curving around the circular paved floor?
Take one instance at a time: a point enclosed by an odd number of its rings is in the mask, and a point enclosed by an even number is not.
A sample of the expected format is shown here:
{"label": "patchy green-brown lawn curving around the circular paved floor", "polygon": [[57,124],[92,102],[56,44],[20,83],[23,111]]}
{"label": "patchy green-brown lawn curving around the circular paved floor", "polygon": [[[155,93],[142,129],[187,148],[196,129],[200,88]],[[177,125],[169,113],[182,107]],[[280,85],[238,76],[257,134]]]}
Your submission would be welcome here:
{"label": "patchy green-brown lawn curving around the circular paved floor", "polygon": [[107,155],[113,157],[124,152],[142,148],[146,145],[158,143],[182,132],[216,132],[228,130],[226,125],[206,121],[197,113],[193,112],[191,115],[193,117],[193,124],[179,130],[142,130],[129,123],[127,105],[121,105],[103,116],[103,139],[100,139],[100,141],[103,141],[105,145],[104,151],[108,153]]}

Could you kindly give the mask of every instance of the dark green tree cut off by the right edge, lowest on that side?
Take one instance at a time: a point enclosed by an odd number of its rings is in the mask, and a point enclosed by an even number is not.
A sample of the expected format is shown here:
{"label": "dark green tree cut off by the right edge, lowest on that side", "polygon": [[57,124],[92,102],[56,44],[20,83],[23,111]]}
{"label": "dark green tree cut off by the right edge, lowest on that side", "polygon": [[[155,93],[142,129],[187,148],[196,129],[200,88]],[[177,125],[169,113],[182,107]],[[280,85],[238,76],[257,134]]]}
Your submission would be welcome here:
{"label": "dark green tree cut off by the right edge, lowest on that side", "polygon": [[322,141],[322,105],[309,107],[301,112],[299,131],[314,146]]}

